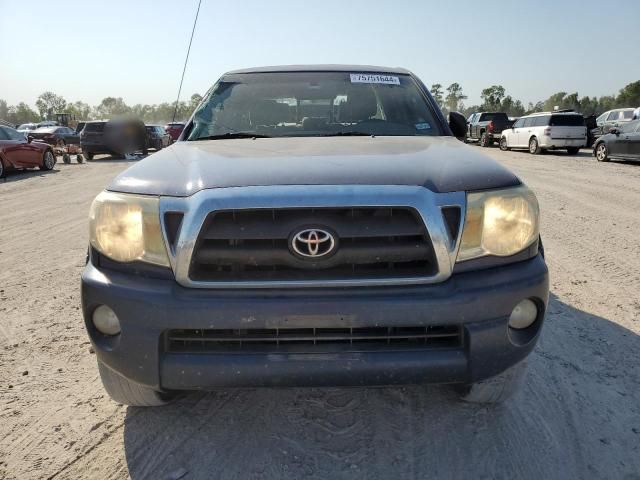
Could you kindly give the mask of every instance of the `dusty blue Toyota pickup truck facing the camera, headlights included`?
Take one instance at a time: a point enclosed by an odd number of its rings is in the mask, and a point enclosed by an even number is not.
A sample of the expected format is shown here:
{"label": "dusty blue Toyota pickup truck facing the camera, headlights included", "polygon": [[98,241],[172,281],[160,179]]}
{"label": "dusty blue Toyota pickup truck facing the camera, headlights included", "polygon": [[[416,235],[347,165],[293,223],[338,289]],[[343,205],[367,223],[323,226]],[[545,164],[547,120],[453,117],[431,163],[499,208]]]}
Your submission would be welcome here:
{"label": "dusty blue Toyota pickup truck facing the camera, headlights included", "polygon": [[505,400],[548,301],[539,209],[464,133],[404,69],[224,74],[182,141],[91,206],[82,310],[108,394],[441,383]]}

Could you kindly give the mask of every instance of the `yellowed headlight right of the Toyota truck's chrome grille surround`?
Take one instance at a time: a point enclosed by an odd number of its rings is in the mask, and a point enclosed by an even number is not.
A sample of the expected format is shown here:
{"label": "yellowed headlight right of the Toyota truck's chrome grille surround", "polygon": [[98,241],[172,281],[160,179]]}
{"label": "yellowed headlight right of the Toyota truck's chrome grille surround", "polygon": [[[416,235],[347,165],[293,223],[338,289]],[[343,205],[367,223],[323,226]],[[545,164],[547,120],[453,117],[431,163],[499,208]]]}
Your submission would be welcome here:
{"label": "yellowed headlight right of the Toyota truck's chrome grille surround", "polygon": [[538,201],[525,186],[467,194],[458,261],[514,255],[539,235]]}

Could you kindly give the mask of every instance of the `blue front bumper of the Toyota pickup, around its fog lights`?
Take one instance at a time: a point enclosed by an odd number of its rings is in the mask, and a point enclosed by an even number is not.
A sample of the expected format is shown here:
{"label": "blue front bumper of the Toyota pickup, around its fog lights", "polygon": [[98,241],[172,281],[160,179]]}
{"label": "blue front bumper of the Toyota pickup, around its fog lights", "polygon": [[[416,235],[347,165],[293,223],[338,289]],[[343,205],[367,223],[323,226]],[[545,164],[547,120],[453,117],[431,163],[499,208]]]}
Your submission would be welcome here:
{"label": "blue front bumper of the Toyota pickup, around its fog lights", "polygon": [[[82,274],[85,323],[98,360],[131,381],[165,390],[225,386],[470,383],[494,376],[533,349],[548,301],[541,255],[454,274],[446,282],[399,287],[209,290],[103,271]],[[507,326],[524,298],[541,314],[526,339]],[[105,337],[91,323],[101,304],[122,332]],[[170,329],[460,325],[463,346],[444,350],[331,353],[165,353]]]}

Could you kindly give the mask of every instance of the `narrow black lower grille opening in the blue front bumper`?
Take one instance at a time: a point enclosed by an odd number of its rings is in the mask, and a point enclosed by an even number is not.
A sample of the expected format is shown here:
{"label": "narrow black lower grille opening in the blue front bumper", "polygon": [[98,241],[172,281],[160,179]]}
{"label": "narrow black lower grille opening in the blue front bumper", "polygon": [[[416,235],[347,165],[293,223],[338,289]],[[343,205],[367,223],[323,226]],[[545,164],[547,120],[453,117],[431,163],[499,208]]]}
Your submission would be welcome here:
{"label": "narrow black lower grille opening in the blue front bumper", "polygon": [[461,348],[458,325],[169,330],[167,353],[364,352]]}

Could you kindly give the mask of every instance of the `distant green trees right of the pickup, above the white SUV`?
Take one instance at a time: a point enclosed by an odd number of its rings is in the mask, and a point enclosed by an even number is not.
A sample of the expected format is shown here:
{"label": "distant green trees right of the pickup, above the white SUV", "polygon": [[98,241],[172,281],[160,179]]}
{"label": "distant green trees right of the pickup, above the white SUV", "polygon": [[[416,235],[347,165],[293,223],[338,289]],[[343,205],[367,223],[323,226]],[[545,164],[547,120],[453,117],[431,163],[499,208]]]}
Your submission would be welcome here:
{"label": "distant green trees right of the pickup, above the white SUV", "polygon": [[626,85],[617,95],[580,97],[578,92],[558,92],[546,100],[529,102],[526,106],[520,100],[507,95],[502,85],[491,85],[483,89],[480,94],[482,103],[470,106],[465,105],[464,101],[468,97],[458,83],[452,83],[446,89],[440,83],[434,83],[430,91],[445,113],[458,111],[465,116],[473,112],[506,112],[510,116],[521,117],[529,113],[548,112],[554,107],[570,108],[583,115],[599,115],[613,108],[640,106],[640,80]]}

